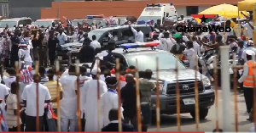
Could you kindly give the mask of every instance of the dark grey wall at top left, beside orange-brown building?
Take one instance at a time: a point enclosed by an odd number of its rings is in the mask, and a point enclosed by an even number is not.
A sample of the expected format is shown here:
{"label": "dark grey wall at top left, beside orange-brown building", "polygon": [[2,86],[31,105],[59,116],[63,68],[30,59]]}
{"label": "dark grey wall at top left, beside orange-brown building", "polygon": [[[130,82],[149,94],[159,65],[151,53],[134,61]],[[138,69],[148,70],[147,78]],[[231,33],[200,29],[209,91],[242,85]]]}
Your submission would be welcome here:
{"label": "dark grey wall at top left, beside orange-brown building", "polygon": [[54,0],[9,0],[9,17],[40,19],[41,8],[50,7]]}

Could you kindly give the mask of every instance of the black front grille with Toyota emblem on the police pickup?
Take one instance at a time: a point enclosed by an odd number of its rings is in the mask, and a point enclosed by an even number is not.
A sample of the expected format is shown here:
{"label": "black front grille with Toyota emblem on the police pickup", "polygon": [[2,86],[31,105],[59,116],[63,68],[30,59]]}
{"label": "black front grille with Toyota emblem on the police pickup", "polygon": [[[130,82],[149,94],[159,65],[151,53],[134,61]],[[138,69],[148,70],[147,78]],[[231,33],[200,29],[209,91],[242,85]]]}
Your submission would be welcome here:
{"label": "black front grille with Toyota emblem on the police pickup", "polygon": [[[204,91],[203,84],[201,81],[198,81],[198,91]],[[195,94],[195,81],[189,82],[179,82],[179,93],[180,94]],[[166,88],[166,94],[172,95],[176,94],[176,83],[168,84]]]}

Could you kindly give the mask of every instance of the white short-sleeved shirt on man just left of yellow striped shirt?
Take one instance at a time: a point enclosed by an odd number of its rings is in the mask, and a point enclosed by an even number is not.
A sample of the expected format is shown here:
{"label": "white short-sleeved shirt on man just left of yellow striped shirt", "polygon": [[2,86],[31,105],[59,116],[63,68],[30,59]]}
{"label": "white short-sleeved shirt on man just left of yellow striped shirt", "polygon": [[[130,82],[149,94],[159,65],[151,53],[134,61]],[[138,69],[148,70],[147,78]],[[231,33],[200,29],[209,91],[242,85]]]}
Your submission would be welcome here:
{"label": "white short-sleeved shirt on man just left of yellow striped shirt", "polygon": [[[25,86],[21,99],[26,100],[26,115],[37,116],[37,83]],[[44,102],[49,100],[49,90],[46,86],[38,83],[38,115],[44,115]]]}

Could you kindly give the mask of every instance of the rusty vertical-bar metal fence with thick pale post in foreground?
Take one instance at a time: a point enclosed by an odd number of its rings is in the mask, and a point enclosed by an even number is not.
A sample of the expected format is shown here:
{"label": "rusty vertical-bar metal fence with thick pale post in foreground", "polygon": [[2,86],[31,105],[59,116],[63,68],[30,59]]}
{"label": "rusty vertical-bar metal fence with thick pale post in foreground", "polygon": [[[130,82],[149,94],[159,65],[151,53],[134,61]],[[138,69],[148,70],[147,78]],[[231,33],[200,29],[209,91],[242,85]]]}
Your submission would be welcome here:
{"label": "rusty vertical-bar metal fence with thick pale post in foreground", "polygon": [[[231,117],[231,112],[232,112],[232,108],[230,106],[230,103],[231,103],[231,91],[230,91],[230,73],[229,73],[229,69],[230,69],[230,65],[229,65],[229,48],[224,46],[224,47],[220,47],[220,53],[221,53],[221,67],[218,67],[217,65],[217,57],[215,57],[214,59],[214,91],[215,91],[215,130],[219,130],[219,114],[218,114],[218,108],[219,108],[219,103],[218,103],[218,98],[220,97],[219,94],[218,94],[218,69],[221,69],[221,90],[222,90],[222,98],[223,98],[223,117],[222,117],[222,121],[223,121],[223,130],[224,131],[231,131],[232,130],[232,117]],[[159,84],[159,58],[155,58],[156,59],[156,130],[157,131],[160,131],[160,84]],[[236,59],[236,54],[233,55],[233,59],[235,60]],[[196,60],[195,60],[196,61]],[[197,61],[196,61],[197,62]],[[76,62],[77,66],[79,66],[79,61],[77,60]],[[177,64],[177,63],[176,63]],[[3,64],[2,64],[3,65]],[[60,66],[59,66],[59,61],[57,60],[56,61],[56,64],[55,64],[55,70],[56,70],[56,75],[57,75],[57,84],[56,84],[56,88],[57,88],[57,125],[58,125],[58,131],[61,131],[61,109],[60,109],[60,90],[59,90],[59,77],[60,77]],[[136,61],[136,80],[139,79],[139,75],[138,75],[138,62]],[[166,64],[168,65],[168,64]],[[19,79],[20,79],[20,74],[19,74],[19,67],[18,67],[18,63],[15,64],[15,67],[16,67],[16,71],[17,71],[17,82],[19,82]],[[120,80],[119,80],[119,76],[120,76],[120,64],[119,64],[119,59],[116,60],[116,77],[117,77],[117,80],[118,80],[118,95],[119,95],[119,131],[122,131],[122,125],[121,125],[121,122],[122,122],[122,119],[121,119],[121,99],[120,99]],[[238,119],[238,104],[237,104],[237,69],[241,68],[242,66],[240,65],[236,65],[235,61],[233,62],[232,64],[232,69],[234,71],[234,101],[233,103],[235,103],[235,108],[233,109],[233,111],[235,111],[235,131],[239,131],[238,129],[238,122],[239,122],[239,119]],[[97,68],[99,69],[100,68],[100,64],[97,64]],[[180,110],[180,88],[179,88],[179,81],[178,81],[178,75],[179,75],[179,69],[178,69],[178,66],[176,66],[176,104],[177,104],[177,131],[181,131],[181,117],[180,117],[180,114],[181,114],[181,110]],[[195,129],[196,130],[200,130],[200,108],[199,108],[199,85],[198,85],[198,69],[197,69],[197,64],[195,65]],[[36,62],[36,69],[35,69],[35,74],[38,74],[38,62]],[[78,90],[78,93],[77,93],[77,99],[78,99],[78,108],[77,108],[77,111],[78,111],[78,131],[82,131],[81,130],[81,122],[80,122],[80,102],[79,102],[79,97],[82,97],[80,96],[80,89],[79,89],[79,67],[76,68],[76,74],[77,74],[77,77],[78,77],[78,80],[77,80],[77,84],[78,84],[78,87],[77,87],[77,90]],[[256,73],[255,73],[256,74]],[[97,74],[97,77],[99,79],[99,75],[100,73]],[[255,84],[254,84],[255,85]],[[100,106],[100,91],[99,91],[99,80],[98,80],[98,84],[97,84],[97,106],[98,106],[98,110],[97,110],[97,114],[98,114],[98,131],[101,131],[101,128],[100,128],[100,113],[101,113],[101,106]],[[142,131],[142,118],[141,118],[141,105],[140,105],[140,96],[139,96],[139,82],[137,81],[136,82],[136,95],[137,95],[137,130],[138,131]],[[254,125],[256,124],[256,91],[255,91],[255,87],[253,89],[253,93],[254,93],[254,97],[253,97],[253,101],[254,101],[254,104],[253,104],[253,121],[254,121]],[[37,130],[39,130],[39,118],[38,118],[38,95],[40,95],[38,93],[38,86],[37,86],[37,105],[35,105],[37,107]],[[20,108],[20,102],[19,102],[19,99],[20,99],[20,94],[19,92],[17,93],[17,100],[18,100],[18,103],[17,103],[17,107]],[[17,109],[17,122],[18,122],[18,130],[20,131],[20,111],[19,109]],[[214,130],[214,129],[212,129]],[[256,131],[256,128],[255,128],[255,131]]]}

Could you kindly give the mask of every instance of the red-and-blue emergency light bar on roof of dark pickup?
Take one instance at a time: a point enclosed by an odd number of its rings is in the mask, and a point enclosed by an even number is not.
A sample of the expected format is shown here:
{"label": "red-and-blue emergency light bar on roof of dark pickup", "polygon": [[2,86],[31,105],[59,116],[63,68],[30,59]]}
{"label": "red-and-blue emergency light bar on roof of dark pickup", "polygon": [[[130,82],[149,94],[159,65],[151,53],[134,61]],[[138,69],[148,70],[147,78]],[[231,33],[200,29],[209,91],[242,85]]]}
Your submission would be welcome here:
{"label": "red-and-blue emergency light bar on roof of dark pickup", "polygon": [[135,42],[135,43],[125,43],[119,45],[119,48],[124,48],[124,52],[128,52],[129,48],[138,48],[138,47],[151,47],[152,50],[155,50],[156,46],[158,46],[160,42]]}

